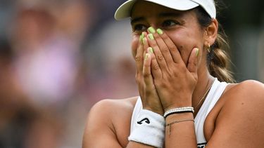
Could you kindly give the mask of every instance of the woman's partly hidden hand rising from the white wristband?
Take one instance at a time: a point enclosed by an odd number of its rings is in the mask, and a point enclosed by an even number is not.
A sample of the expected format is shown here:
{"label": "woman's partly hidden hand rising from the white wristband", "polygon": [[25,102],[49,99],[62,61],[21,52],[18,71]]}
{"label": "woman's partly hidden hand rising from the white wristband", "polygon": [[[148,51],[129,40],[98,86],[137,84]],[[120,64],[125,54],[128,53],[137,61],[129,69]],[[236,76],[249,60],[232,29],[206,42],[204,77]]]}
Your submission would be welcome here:
{"label": "woman's partly hidden hand rising from the white wristband", "polygon": [[151,75],[151,58],[155,58],[153,50],[149,48],[146,39],[146,32],[143,32],[139,39],[139,46],[135,56],[137,73],[136,81],[139,89],[139,95],[142,99],[143,109],[151,110],[163,116],[163,107],[158,97],[156,87]]}

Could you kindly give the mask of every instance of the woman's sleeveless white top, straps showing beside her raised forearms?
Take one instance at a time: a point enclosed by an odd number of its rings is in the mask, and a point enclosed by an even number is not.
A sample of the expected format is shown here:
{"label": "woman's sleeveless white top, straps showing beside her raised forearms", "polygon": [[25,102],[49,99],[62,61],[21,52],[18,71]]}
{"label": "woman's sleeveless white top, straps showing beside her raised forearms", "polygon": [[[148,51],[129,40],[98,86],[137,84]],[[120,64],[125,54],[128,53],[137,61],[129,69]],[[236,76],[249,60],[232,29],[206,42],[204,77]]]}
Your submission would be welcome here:
{"label": "woman's sleeveless white top, straps showing beside her raised forearms", "polygon": [[[203,148],[207,144],[206,138],[203,135],[203,123],[206,120],[206,116],[209,114],[210,110],[213,109],[216,102],[218,102],[222,93],[224,93],[226,86],[227,86],[226,82],[220,82],[218,81],[217,78],[215,78],[215,81],[213,82],[213,85],[210,88],[210,91],[206,99],[204,100],[201,109],[196,114],[196,117],[194,119],[194,125],[195,125],[197,147],[199,148]],[[134,125],[140,110],[142,110],[142,101],[139,97],[137,99],[137,103],[134,107],[134,111],[132,114],[130,133],[132,133],[132,130],[134,129]]]}

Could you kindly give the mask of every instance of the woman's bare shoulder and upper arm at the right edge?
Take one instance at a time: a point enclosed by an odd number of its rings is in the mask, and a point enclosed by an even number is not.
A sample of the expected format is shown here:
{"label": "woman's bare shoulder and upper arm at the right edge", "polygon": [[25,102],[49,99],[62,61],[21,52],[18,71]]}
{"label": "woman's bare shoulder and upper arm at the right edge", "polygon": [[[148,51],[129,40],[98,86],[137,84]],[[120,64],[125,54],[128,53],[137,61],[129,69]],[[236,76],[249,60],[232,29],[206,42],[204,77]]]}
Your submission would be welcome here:
{"label": "woman's bare shoulder and upper arm at the right edge", "polygon": [[264,147],[264,85],[244,81],[225,93],[226,101],[206,147]]}

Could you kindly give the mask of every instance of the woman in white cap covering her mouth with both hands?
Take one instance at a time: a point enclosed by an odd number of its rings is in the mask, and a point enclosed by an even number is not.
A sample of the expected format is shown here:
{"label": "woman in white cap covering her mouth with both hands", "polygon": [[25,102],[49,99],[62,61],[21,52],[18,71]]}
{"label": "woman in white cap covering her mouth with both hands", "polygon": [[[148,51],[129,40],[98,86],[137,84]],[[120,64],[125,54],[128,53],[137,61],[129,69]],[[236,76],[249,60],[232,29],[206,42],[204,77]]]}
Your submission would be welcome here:
{"label": "woman in white cap covering her mouth with both hands", "polygon": [[264,86],[232,83],[213,0],[130,0],[127,17],[140,97],[94,105],[83,147],[264,147]]}

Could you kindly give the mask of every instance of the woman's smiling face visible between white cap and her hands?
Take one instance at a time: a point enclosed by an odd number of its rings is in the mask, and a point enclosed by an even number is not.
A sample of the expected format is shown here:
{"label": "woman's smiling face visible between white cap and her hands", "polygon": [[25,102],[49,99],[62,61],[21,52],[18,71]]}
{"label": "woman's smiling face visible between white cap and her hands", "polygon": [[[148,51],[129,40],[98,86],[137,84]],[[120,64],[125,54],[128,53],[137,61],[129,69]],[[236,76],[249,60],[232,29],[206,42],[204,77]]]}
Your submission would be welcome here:
{"label": "woman's smiling face visible between white cap and her hands", "polygon": [[131,18],[133,55],[137,52],[140,34],[148,27],[160,28],[168,34],[185,64],[193,48],[203,49],[206,31],[200,27],[194,11],[176,11],[148,1],[138,1],[134,4]]}

